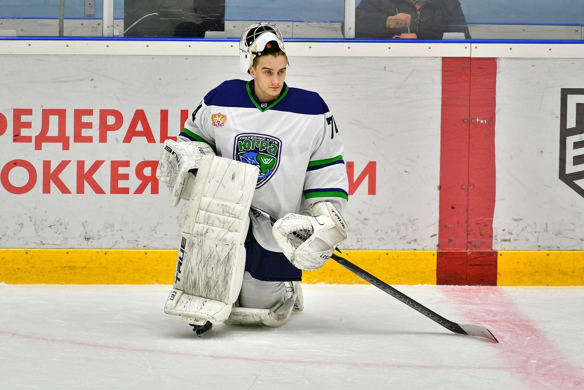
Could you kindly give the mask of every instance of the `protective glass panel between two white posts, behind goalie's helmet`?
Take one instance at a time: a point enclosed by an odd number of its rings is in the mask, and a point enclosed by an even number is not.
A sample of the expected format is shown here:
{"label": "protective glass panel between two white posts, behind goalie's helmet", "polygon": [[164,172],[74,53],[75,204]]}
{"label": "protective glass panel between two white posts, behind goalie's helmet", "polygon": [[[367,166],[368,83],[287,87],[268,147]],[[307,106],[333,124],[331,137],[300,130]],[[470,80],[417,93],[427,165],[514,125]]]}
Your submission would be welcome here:
{"label": "protective glass panel between two white posts, behind goalie's helmet", "polygon": [[[116,7],[121,0],[116,0]],[[126,37],[239,37],[273,22],[284,38],[343,37],[345,0],[124,0]]]}

